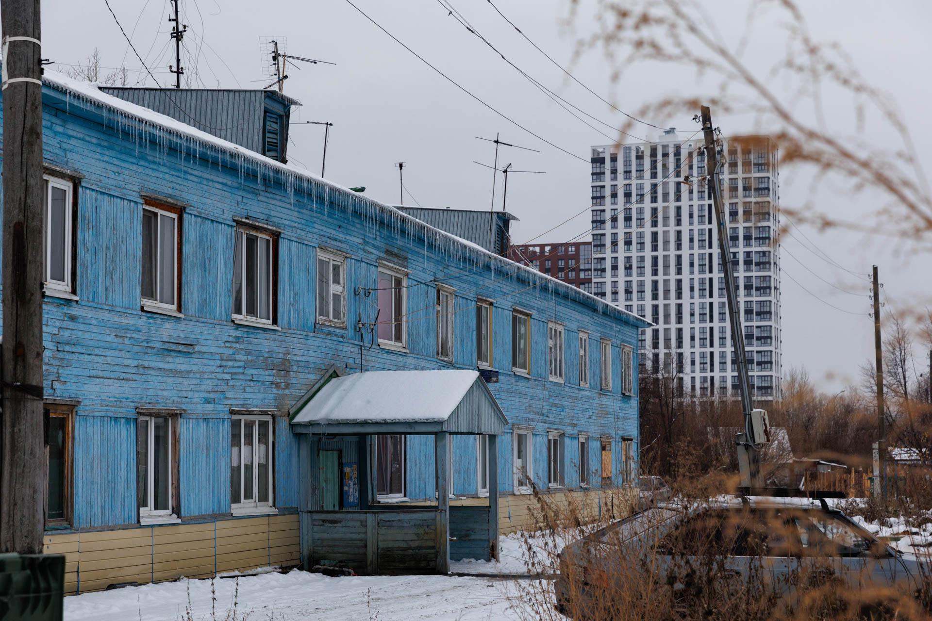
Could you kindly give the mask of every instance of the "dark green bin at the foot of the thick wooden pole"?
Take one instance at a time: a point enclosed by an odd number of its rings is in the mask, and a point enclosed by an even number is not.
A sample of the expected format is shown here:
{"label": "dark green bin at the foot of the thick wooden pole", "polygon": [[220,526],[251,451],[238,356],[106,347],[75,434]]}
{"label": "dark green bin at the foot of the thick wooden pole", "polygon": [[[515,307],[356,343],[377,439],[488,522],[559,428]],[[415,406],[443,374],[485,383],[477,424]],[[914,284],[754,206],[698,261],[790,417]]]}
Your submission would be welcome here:
{"label": "dark green bin at the foot of the thick wooden pole", "polygon": [[62,621],[64,556],[0,554],[0,620]]}

